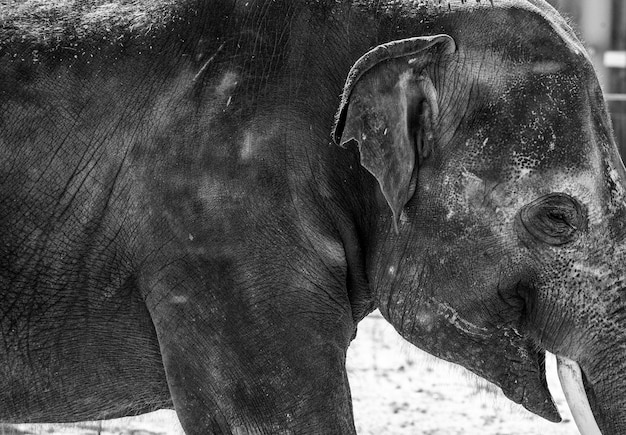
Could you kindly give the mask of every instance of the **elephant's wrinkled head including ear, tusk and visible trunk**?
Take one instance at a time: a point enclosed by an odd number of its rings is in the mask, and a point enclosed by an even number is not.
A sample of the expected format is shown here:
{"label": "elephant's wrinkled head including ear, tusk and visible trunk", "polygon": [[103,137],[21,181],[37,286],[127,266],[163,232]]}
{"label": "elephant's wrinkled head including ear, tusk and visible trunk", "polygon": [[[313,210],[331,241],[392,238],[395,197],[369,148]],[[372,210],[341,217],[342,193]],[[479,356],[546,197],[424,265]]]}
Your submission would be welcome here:
{"label": "elephant's wrinkled head including ear, tusk and visible trunk", "polygon": [[379,186],[368,273],[399,333],[558,421],[550,351],[581,431],[621,434],[626,172],[581,43],[532,3],[371,50],[334,138]]}

